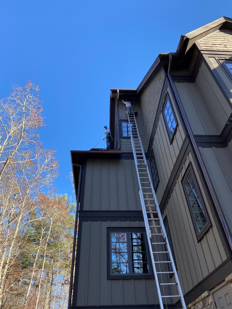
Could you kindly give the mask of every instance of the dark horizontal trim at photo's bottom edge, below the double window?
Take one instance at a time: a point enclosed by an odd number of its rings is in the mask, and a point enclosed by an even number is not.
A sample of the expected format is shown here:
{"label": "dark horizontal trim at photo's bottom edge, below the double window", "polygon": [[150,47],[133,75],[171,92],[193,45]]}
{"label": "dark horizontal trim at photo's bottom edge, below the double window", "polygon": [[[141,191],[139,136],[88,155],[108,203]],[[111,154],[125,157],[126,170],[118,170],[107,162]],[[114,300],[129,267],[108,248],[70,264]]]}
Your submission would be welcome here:
{"label": "dark horizontal trim at photo's bottom edge, below the double window", "polygon": [[[165,305],[166,307],[166,305]],[[72,306],[71,309],[160,309],[159,304],[153,305],[113,305],[113,306]],[[167,305],[168,309],[174,309],[174,306]]]}

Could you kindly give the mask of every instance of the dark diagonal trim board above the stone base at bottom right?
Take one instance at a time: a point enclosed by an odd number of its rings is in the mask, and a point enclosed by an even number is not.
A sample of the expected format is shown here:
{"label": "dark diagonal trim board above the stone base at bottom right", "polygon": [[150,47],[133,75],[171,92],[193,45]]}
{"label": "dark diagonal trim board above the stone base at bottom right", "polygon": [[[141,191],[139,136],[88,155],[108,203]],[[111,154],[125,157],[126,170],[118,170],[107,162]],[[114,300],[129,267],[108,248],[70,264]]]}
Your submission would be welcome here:
{"label": "dark diagonal trim board above the stone base at bottom right", "polygon": [[[231,257],[226,259],[221,265],[213,270],[208,276],[194,286],[187,294],[184,295],[185,303],[189,304],[198,298],[202,293],[212,290],[215,286],[225,280],[232,273]],[[178,307],[178,303],[176,303]]]}

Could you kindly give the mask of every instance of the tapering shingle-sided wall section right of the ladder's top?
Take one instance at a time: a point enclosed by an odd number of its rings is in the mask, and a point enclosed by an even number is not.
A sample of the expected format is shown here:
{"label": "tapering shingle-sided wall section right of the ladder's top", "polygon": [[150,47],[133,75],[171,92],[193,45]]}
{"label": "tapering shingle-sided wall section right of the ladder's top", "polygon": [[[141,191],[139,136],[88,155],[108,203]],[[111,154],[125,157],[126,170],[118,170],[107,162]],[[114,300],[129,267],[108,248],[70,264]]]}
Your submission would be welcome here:
{"label": "tapering shingle-sided wall section right of the ladder's top", "polygon": [[163,71],[160,71],[158,75],[155,78],[153,78],[151,83],[146,87],[146,89],[140,96],[140,105],[144,121],[144,130],[147,145],[149,143],[152,134],[152,129],[164,81],[165,81],[165,75]]}

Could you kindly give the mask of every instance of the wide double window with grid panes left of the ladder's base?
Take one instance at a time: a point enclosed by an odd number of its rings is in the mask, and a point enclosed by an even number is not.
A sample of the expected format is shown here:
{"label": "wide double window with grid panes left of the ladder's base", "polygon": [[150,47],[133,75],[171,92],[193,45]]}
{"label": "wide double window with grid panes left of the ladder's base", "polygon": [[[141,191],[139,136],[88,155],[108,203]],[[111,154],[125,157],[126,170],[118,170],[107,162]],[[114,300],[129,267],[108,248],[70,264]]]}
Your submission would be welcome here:
{"label": "wide double window with grid panes left of the ladder's base", "polygon": [[108,279],[151,277],[144,229],[109,228]]}

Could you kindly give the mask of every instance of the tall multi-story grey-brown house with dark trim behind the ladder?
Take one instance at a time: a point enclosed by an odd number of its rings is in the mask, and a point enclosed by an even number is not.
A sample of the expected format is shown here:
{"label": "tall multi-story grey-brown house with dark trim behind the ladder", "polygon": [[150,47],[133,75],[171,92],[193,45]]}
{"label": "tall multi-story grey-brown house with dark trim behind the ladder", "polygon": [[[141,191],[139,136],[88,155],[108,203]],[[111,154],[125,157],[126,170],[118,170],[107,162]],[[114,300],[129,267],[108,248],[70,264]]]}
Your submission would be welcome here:
{"label": "tall multi-story grey-brown house with dark trim behind the ladder", "polygon": [[[227,17],[181,36],[175,53],[159,53],[137,89],[111,89],[109,151],[71,151],[79,225],[70,307],[160,307],[124,98],[138,113],[187,308],[231,308],[232,19]],[[166,307],[183,308],[170,300]]]}

